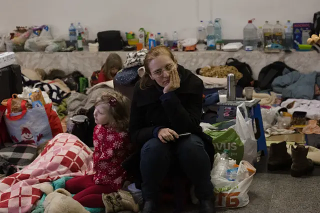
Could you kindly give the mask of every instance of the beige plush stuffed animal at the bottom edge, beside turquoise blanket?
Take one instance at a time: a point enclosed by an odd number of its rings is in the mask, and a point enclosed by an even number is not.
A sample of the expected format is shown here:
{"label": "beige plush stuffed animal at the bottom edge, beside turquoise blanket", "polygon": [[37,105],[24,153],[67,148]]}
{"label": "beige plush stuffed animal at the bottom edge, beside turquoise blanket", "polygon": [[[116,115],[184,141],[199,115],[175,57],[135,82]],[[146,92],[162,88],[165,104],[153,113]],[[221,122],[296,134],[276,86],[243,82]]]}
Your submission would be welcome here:
{"label": "beige plush stuffed animal at the bottom edge, beside turquoise blanket", "polygon": [[49,183],[43,183],[40,190],[47,194],[42,205],[43,213],[90,213],[78,201],[71,197],[71,193],[64,188],[53,191]]}

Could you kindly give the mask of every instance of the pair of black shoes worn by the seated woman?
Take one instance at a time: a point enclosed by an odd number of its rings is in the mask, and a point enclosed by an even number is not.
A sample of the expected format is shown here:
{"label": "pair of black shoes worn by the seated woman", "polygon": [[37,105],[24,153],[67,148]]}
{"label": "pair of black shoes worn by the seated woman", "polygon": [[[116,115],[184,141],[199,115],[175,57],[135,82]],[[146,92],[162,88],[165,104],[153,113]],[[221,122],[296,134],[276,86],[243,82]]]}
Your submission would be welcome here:
{"label": "pair of black shoes worn by the seated woman", "polygon": [[[156,213],[157,205],[153,200],[144,202],[142,213]],[[202,199],[199,201],[199,213],[215,213],[214,202],[212,199]]]}

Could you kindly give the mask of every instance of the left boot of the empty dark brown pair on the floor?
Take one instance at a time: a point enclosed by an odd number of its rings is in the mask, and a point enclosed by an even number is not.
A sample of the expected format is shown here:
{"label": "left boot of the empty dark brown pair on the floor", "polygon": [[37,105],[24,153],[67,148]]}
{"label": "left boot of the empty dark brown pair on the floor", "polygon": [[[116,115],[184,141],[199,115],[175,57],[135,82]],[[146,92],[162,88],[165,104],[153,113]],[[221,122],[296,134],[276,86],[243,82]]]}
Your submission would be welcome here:
{"label": "left boot of the empty dark brown pair on the floor", "polygon": [[268,170],[289,169],[292,164],[292,158],[286,151],[286,142],[271,143],[268,159]]}

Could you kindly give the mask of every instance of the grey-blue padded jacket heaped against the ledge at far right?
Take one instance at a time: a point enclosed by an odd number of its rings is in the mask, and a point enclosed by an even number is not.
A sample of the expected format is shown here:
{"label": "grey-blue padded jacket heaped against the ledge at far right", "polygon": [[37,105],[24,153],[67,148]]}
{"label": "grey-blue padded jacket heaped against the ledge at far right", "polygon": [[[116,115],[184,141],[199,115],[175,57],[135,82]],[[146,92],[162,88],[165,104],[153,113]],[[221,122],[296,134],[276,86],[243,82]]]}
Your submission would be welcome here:
{"label": "grey-blue padded jacket heaped against the ledge at far right", "polygon": [[273,91],[282,93],[282,98],[320,99],[319,96],[314,96],[315,83],[320,85],[320,73],[283,72],[282,76],[276,77],[272,82]]}

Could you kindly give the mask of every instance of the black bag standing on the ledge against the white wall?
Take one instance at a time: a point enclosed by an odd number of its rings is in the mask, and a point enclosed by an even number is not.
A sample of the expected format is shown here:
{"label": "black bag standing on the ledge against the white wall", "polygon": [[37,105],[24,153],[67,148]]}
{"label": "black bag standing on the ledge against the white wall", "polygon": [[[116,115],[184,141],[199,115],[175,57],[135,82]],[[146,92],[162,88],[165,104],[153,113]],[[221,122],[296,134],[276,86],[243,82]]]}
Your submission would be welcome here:
{"label": "black bag standing on the ledge against the white wall", "polygon": [[99,51],[117,51],[122,50],[124,45],[120,31],[108,30],[97,33]]}

